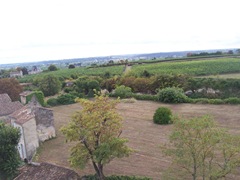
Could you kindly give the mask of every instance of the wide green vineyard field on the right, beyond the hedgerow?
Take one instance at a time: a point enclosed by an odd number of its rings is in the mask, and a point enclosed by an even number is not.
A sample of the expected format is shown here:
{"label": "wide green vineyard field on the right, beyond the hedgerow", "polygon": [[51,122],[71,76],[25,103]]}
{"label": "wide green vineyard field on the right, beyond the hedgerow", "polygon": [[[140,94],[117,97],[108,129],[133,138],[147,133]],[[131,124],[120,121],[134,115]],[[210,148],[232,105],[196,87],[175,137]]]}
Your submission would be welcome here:
{"label": "wide green vineyard field on the right, beyond the hedgerow", "polygon": [[139,75],[144,70],[151,74],[189,74],[195,76],[240,72],[240,59],[218,58],[183,62],[162,62],[133,66],[130,75]]}

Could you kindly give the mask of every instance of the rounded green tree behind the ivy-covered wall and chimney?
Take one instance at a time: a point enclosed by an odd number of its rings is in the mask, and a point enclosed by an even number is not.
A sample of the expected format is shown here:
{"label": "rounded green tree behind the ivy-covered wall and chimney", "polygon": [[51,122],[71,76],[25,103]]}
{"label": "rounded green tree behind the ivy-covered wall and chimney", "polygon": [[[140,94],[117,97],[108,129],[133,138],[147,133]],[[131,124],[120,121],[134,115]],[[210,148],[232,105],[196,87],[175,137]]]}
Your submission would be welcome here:
{"label": "rounded green tree behind the ivy-covered wall and chimney", "polygon": [[53,75],[46,75],[38,81],[38,87],[45,96],[52,96],[60,91],[61,82]]}

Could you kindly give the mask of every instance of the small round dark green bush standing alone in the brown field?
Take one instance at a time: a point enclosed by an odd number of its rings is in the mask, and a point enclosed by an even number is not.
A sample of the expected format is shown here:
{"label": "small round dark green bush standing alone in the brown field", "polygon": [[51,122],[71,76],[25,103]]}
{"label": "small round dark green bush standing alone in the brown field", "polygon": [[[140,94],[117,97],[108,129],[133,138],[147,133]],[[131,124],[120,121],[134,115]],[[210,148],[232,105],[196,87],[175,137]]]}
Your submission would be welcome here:
{"label": "small round dark green bush standing alone in the brown field", "polygon": [[156,124],[170,124],[172,119],[172,111],[167,107],[160,107],[153,116],[153,122]]}

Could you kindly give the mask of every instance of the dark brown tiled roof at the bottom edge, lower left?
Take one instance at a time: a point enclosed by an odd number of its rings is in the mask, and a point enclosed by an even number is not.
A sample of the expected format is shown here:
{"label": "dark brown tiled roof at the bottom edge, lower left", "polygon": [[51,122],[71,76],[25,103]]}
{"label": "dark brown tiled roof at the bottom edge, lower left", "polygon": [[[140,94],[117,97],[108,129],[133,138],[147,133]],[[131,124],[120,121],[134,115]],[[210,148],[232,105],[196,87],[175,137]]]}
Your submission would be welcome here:
{"label": "dark brown tiled roof at the bottom edge, lower left", "polygon": [[78,180],[79,175],[61,166],[49,163],[41,163],[39,166],[28,166],[14,180]]}

